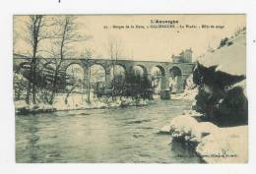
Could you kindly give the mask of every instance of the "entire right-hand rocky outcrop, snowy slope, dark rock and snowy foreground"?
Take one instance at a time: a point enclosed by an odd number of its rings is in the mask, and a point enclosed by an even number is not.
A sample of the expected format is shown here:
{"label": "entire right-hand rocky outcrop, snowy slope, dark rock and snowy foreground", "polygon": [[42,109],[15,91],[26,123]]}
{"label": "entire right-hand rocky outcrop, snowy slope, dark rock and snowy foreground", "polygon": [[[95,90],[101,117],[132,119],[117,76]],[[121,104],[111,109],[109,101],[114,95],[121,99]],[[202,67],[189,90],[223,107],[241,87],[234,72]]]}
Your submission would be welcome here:
{"label": "entire right-hand rocky outcrop, snowy slope, dark rock and snowy foreground", "polygon": [[196,95],[192,95],[195,96],[192,108],[201,116],[193,117],[194,114],[190,114],[175,117],[160,133],[170,134],[173,141],[192,145],[206,162],[247,162],[248,101],[245,65],[244,28],[232,37],[224,38],[220,47],[198,59],[191,83],[197,88],[194,92]]}

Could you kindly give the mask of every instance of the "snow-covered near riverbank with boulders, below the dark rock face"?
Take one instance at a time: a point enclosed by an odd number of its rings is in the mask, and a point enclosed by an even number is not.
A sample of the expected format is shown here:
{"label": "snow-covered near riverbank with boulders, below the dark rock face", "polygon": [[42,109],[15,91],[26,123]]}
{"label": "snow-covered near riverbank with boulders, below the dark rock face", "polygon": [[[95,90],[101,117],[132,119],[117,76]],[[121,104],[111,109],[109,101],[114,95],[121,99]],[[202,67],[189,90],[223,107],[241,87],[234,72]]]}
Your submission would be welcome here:
{"label": "snow-covered near riverbank with boulders, below the dark rock face", "polygon": [[248,126],[220,128],[211,122],[199,122],[198,118],[193,114],[177,116],[160,133],[189,145],[207,163],[248,161]]}

